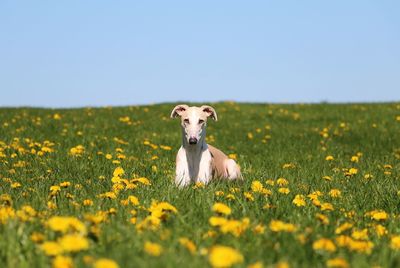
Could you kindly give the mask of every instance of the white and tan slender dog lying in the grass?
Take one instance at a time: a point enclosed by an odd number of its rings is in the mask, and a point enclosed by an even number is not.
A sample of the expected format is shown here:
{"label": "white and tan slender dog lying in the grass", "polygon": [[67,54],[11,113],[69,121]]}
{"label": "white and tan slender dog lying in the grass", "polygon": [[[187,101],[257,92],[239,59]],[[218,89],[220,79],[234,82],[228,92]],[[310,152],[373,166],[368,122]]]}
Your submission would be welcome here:
{"label": "white and tan slender dog lying in the grass", "polygon": [[207,119],[217,121],[215,109],[208,105],[175,106],[171,118],[181,118],[182,146],[176,156],[175,184],[184,187],[190,183],[208,184],[213,178],[243,179],[240,167],[222,151],[205,141]]}

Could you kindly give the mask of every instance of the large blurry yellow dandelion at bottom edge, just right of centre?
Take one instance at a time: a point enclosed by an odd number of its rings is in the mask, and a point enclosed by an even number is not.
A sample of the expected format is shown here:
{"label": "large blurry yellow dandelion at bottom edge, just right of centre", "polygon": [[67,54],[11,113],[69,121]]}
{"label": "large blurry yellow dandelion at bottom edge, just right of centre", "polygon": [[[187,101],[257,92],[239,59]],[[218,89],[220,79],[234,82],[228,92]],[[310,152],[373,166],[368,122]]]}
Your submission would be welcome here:
{"label": "large blurry yellow dandelion at bottom edge, just right of centre", "polygon": [[210,249],[208,260],[212,267],[231,267],[242,263],[243,255],[234,248],[216,245]]}

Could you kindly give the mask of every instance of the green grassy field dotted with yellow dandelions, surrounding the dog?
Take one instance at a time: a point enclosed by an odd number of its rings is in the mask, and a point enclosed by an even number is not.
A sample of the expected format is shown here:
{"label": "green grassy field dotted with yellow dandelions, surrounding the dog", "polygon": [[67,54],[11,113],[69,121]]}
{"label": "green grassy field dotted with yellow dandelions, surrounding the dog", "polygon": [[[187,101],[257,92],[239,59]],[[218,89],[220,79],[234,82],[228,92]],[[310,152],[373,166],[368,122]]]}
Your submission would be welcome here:
{"label": "green grassy field dotted with yellow dandelions, surrounding the dog", "polygon": [[0,109],[1,267],[399,267],[400,104],[213,104],[245,181],[177,189],[174,104]]}

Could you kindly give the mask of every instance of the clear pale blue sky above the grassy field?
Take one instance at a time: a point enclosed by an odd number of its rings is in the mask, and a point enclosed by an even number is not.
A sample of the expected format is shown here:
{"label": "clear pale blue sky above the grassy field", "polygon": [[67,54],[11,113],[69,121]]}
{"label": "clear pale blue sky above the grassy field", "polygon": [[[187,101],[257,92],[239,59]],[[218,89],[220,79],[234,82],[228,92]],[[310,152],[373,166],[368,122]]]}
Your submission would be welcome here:
{"label": "clear pale blue sky above the grassy field", "polygon": [[0,1],[0,106],[400,100],[400,1]]}

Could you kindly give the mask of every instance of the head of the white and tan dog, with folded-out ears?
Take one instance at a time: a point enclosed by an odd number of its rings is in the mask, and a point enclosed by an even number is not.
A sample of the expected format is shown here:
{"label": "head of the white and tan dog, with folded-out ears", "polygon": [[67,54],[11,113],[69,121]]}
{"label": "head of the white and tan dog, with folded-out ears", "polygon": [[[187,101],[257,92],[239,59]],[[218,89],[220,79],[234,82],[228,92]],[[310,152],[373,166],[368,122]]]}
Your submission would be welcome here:
{"label": "head of the white and tan dog, with folded-out ears", "polygon": [[211,117],[217,121],[215,109],[208,105],[189,107],[186,104],[175,106],[171,118],[181,118],[183,134],[188,144],[195,145],[205,135],[207,119]]}

